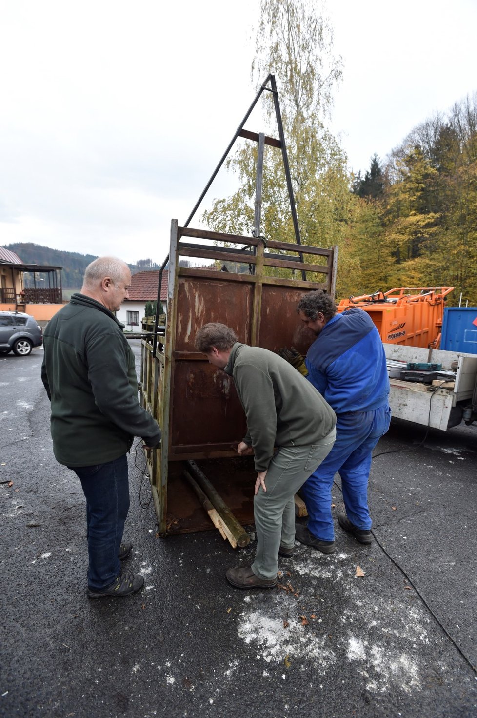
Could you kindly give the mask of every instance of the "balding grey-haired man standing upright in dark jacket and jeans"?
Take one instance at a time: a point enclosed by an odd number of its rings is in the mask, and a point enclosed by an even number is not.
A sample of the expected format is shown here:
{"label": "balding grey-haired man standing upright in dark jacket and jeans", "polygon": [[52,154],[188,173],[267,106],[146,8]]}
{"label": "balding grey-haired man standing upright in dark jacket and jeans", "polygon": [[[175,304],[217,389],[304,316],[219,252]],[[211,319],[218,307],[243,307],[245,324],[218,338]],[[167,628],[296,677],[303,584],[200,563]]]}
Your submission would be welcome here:
{"label": "balding grey-haired man standing upright in dark jacket and jeans", "polygon": [[42,381],[51,401],[53,450],[80,478],[88,523],[88,596],[121,597],[141,589],[140,574],[121,572],[132,544],[122,541],[129,509],[127,452],[146,448],[161,429],[138,401],[134,355],[117,312],[131,271],[115,257],[95,259],[80,294],[44,330]]}

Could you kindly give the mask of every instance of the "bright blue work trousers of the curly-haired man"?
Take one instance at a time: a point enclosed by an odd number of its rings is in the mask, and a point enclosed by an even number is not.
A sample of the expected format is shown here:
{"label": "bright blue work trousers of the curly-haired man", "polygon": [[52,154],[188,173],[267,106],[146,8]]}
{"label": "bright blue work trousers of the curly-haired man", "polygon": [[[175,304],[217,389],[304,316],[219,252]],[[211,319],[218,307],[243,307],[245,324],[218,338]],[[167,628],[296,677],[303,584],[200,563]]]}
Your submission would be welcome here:
{"label": "bright blue work trousers of the curly-haired man", "polygon": [[380,406],[374,411],[349,411],[336,416],[336,442],[326,459],[303,484],[301,492],[308,510],[308,529],[322,541],[334,541],[331,516],[331,486],[336,472],[349,521],[369,530],[368,479],[371,453],[389,429],[391,409]]}

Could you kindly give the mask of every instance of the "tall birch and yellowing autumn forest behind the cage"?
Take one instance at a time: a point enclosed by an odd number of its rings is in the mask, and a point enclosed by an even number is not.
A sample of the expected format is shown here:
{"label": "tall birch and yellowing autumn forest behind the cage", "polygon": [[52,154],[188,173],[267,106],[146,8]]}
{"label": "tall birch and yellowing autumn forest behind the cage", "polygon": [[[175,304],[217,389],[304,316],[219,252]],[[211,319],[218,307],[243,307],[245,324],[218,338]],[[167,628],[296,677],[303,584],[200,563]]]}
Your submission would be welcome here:
{"label": "tall birch and yellowing autumn forest behind the cage", "polygon": [[[262,0],[260,16],[252,80],[276,76],[301,241],[339,247],[337,296],[455,286],[450,304],[461,292],[477,304],[477,94],[412,129],[384,161],[374,154],[353,179],[326,127],[341,61],[323,12],[306,0]],[[266,94],[264,126],[250,129],[276,134]],[[245,141],[228,162],[237,192],[204,213],[212,229],[250,236],[256,164],[257,146]],[[295,241],[281,153],[270,146],[262,200],[262,233]]]}

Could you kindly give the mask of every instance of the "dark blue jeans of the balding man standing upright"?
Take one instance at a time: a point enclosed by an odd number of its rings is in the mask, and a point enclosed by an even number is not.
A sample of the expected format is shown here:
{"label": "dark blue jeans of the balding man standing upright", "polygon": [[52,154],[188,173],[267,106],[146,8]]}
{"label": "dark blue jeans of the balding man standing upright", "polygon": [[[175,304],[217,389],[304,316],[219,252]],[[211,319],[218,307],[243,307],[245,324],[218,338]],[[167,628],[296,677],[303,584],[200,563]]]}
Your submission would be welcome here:
{"label": "dark blue jeans of the balding man standing upright", "polygon": [[121,573],[118,559],[129,509],[126,454],[106,464],[70,467],[80,478],[88,523],[88,587],[104,588]]}

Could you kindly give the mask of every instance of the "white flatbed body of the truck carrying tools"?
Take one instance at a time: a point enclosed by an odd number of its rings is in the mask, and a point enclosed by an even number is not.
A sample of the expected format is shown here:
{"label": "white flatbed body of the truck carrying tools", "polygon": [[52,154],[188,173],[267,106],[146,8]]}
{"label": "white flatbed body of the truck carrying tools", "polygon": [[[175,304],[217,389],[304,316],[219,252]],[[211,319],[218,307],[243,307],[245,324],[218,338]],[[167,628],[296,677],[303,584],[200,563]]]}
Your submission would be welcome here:
{"label": "white flatbed body of the truck carrying tools", "polygon": [[390,360],[442,364],[443,369],[448,370],[452,368],[452,363],[458,363],[453,389],[389,378],[392,416],[443,431],[457,426],[463,418],[477,418],[472,416],[477,411],[476,354],[397,344],[384,344],[384,351]]}

